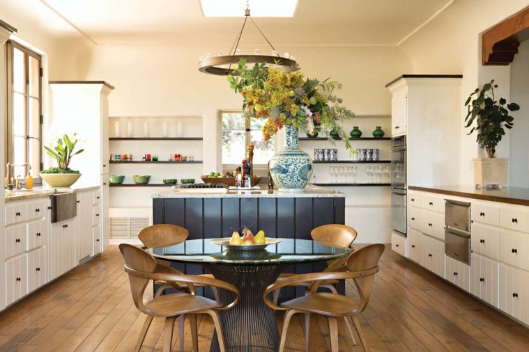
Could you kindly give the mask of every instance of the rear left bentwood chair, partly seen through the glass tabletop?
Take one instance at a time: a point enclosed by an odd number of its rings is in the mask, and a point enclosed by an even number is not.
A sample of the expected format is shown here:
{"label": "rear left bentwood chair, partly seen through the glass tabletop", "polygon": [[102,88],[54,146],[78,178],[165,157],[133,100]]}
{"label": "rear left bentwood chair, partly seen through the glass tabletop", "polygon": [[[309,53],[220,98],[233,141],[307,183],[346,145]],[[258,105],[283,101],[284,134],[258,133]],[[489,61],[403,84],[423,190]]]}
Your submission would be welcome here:
{"label": "rear left bentwood chair, partly seen through the glass tabletop", "polygon": [[[138,234],[138,238],[141,243],[144,243],[145,248],[164,248],[170,246],[176,246],[187,239],[189,231],[184,227],[178,225],[159,224],[145,227]],[[171,267],[171,262],[156,258],[156,269],[155,273],[167,273],[167,274],[181,274],[182,272],[178,269]],[[213,278],[211,274],[199,275],[206,278]],[[164,291],[165,289],[174,288],[177,291],[187,289],[187,285],[181,282],[164,282],[156,281],[157,285],[160,285],[158,290]],[[202,285],[194,285],[195,287],[203,287]],[[219,294],[215,287],[212,287],[213,295],[215,299],[219,301]]]}

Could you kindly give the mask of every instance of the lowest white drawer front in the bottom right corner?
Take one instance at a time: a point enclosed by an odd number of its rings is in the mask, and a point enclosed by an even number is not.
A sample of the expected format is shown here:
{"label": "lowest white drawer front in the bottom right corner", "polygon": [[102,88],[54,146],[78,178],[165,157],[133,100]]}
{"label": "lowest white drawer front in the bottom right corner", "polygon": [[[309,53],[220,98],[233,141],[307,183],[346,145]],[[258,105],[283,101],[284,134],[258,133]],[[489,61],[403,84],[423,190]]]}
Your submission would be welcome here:
{"label": "lowest white drawer front in the bottom right corner", "polygon": [[529,273],[500,264],[500,310],[529,324]]}

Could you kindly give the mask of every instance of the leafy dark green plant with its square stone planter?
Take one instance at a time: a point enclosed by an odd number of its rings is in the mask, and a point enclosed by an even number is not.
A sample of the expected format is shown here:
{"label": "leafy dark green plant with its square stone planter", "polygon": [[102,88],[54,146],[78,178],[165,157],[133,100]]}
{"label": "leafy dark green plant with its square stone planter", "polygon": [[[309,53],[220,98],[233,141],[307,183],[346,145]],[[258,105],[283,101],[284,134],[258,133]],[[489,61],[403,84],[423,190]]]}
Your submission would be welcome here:
{"label": "leafy dark green plant with its square stone planter", "polygon": [[496,146],[505,135],[505,128],[512,129],[514,125],[510,112],[518,111],[520,106],[513,102],[507,104],[504,98],[496,100],[494,88],[498,88],[498,85],[492,80],[481,90],[476,88],[465,102],[468,108],[465,127],[472,128],[469,134],[477,131],[476,141],[486,152],[486,158],[473,159],[476,188],[502,188],[507,184],[509,159],[497,158]]}

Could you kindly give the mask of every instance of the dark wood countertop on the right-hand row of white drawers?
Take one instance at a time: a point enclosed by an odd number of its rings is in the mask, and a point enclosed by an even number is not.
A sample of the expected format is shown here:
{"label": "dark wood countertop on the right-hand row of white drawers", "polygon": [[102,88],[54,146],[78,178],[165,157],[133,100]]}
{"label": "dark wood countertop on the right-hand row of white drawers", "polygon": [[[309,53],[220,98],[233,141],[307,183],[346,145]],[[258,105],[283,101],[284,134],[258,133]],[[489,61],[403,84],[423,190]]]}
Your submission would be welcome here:
{"label": "dark wood countertop on the right-hand row of white drawers", "polygon": [[473,186],[408,186],[408,189],[411,191],[440,193],[462,198],[529,206],[529,189],[521,187],[475,189]]}

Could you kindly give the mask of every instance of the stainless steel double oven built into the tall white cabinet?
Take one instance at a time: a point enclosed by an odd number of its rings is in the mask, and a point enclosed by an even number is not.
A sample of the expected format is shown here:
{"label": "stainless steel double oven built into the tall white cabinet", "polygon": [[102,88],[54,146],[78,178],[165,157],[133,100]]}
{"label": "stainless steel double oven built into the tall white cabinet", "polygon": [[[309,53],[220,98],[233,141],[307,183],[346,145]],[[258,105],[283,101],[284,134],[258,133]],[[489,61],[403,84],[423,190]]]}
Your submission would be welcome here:
{"label": "stainless steel double oven built into the tall white cabinet", "polygon": [[391,141],[391,227],[394,232],[406,236],[406,136]]}

